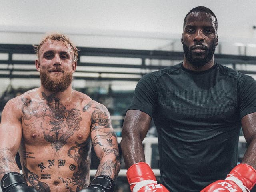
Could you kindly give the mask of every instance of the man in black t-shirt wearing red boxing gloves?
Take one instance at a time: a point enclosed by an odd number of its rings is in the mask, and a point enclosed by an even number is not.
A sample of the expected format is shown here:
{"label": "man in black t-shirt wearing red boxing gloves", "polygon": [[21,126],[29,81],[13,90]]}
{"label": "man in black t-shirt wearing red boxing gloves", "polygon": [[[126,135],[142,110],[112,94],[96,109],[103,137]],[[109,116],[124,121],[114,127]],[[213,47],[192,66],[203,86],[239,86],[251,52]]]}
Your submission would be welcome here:
{"label": "man in black t-shirt wearing red boxing gloves", "polygon": [[[214,62],[217,18],[206,7],[184,19],[184,60],[138,82],[122,130],[133,192],[246,192],[256,183],[256,82]],[[160,183],[142,140],[153,118]],[[248,149],[237,165],[242,126]]]}

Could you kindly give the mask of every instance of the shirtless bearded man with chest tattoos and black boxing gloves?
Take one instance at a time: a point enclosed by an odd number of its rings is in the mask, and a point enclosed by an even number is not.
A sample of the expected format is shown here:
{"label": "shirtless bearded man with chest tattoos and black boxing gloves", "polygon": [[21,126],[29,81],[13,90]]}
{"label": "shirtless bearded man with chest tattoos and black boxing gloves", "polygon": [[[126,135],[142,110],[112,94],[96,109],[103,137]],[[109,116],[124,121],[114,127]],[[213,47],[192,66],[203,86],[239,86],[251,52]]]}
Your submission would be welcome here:
{"label": "shirtless bearded man with chest tattoos and black boxing gloves", "polygon": [[[51,34],[36,52],[41,86],[10,100],[2,112],[2,191],[113,192],[120,170],[117,137],[106,107],[72,89],[77,48]],[[100,164],[90,183],[92,146]]]}

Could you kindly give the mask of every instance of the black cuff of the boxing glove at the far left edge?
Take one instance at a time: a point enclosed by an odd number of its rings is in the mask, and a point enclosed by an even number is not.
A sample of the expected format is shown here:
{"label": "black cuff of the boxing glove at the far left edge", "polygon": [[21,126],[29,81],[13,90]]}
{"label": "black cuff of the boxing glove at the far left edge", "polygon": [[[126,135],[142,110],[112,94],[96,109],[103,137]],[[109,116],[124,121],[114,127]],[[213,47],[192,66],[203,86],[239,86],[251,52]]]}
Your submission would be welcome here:
{"label": "black cuff of the boxing glove at the far left edge", "polygon": [[23,174],[17,172],[10,172],[3,176],[1,180],[1,188],[4,191],[6,188],[10,187],[13,184],[23,183],[27,184],[26,178]]}

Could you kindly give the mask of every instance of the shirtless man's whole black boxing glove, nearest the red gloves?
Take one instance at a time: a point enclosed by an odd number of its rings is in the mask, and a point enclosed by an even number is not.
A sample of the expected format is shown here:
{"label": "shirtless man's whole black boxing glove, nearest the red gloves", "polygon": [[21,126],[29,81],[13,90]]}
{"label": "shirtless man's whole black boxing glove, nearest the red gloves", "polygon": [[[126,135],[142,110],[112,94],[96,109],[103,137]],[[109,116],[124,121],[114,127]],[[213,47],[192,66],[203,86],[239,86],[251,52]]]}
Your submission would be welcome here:
{"label": "shirtless man's whole black boxing glove, nearest the red gloves", "polygon": [[109,176],[99,175],[95,177],[86,189],[79,192],[114,192],[115,183]]}

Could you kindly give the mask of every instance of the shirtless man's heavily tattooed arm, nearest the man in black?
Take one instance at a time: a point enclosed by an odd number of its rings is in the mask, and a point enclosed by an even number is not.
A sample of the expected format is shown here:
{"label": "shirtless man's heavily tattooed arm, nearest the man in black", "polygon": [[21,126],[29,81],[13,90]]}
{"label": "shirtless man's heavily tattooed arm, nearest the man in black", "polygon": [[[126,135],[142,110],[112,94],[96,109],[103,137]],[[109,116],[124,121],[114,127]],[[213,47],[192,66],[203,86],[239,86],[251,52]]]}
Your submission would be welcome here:
{"label": "shirtless man's heavily tattooed arm, nearest the man in black", "polygon": [[91,138],[100,159],[95,176],[107,175],[113,180],[120,170],[117,136],[111,125],[110,114],[105,106],[96,104],[92,112]]}

